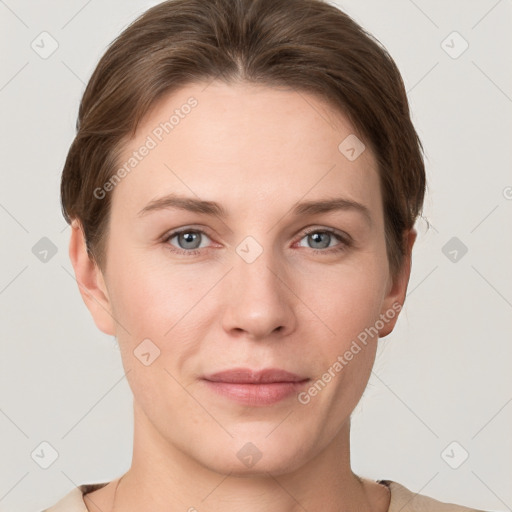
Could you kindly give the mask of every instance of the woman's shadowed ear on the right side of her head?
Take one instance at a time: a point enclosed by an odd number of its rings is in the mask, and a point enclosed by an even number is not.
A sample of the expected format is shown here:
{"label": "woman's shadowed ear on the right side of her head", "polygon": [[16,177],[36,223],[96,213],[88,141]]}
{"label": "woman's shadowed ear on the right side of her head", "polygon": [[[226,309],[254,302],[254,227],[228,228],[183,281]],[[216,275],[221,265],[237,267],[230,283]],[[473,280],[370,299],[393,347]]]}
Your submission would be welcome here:
{"label": "woman's shadowed ear on the right side of her head", "polygon": [[416,241],[417,235],[418,233],[414,228],[404,232],[406,253],[398,274],[394,278],[390,276],[388,292],[382,303],[380,319],[384,326],[382,329],[379,329],[379,338],[383,338],[393,331],[398,315],[404,305],[407,285],[411,275],[412,246]]}

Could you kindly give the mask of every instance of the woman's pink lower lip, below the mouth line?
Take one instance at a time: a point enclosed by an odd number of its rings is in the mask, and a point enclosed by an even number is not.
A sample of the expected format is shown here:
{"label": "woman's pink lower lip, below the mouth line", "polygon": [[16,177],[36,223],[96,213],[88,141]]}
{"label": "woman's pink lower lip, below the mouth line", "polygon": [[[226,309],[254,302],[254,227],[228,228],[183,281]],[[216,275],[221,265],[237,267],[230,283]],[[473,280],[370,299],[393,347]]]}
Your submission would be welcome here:
{"label": "woman's pink lower lip, below the mouth line", "polygon": [[297,394],[309,379],[300,382],[272,382],[267,384],[241,384],[234,382],[212,382],[208,387],[227,398],[244,405],[271,405],[290,395]]}

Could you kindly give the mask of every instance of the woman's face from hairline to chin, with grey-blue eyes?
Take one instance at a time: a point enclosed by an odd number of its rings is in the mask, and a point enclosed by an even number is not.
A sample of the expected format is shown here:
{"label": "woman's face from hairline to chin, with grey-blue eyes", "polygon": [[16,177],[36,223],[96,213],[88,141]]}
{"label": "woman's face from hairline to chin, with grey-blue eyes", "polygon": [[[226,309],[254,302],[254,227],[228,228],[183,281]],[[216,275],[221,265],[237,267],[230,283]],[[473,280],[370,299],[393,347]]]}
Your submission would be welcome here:
{"label": "woman's face from hairline to chin, with grey-blue eyes", "polygon": [[[278,474],[348,425],[408,279],[391,279],[374,155],[354,133],[313,95],[190,85],[98,191],[113,196],[90,309],[118,339],[136,428],[163,450]],[[306,381],[205,380],[234,368]]]}

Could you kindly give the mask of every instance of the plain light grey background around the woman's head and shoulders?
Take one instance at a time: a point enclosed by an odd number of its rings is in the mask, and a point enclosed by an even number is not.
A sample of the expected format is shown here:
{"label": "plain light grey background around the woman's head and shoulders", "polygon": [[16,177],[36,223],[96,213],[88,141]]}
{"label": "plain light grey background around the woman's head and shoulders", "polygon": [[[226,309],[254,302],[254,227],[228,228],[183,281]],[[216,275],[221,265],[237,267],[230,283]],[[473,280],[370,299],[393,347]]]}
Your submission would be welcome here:
{"label": "plain light grey background around the woman's head and shoulders", "polygon": [[[59,178],[98,59],[156,3],[0,0],[2,511],[41,510],[130,465],[131,392],[115,340],[96,329],[73,279]],[[353,416],[354,470],[512,510],[512,2],[338,5],[402,71],[432,224],[418,224],[406,307]],[[59,45],[47,59],[31,48],[42,31]],[[453,31],[469,43],[458,58]],[[42,237],[57,248],[46,262],[32,252]],[[455,262],[443,253],[453,237],[468,248]],[[31,457],[43,441],[58,452],[48,469]],[[469,458],[453,469],[462,450]]]}

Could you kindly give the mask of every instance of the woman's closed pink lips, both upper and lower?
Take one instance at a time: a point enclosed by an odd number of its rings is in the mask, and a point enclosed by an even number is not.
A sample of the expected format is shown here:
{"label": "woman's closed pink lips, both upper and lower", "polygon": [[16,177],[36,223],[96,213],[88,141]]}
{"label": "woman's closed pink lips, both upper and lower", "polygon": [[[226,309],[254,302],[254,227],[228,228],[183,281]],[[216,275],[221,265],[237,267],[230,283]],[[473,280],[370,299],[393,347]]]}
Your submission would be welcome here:
{"label": "woman's closed pink lips, both upper and lower", "polygon": [[285,370],[233,368],[203,379],[222,396],[245,405],[270,405],[296,394],[310,379]]}

